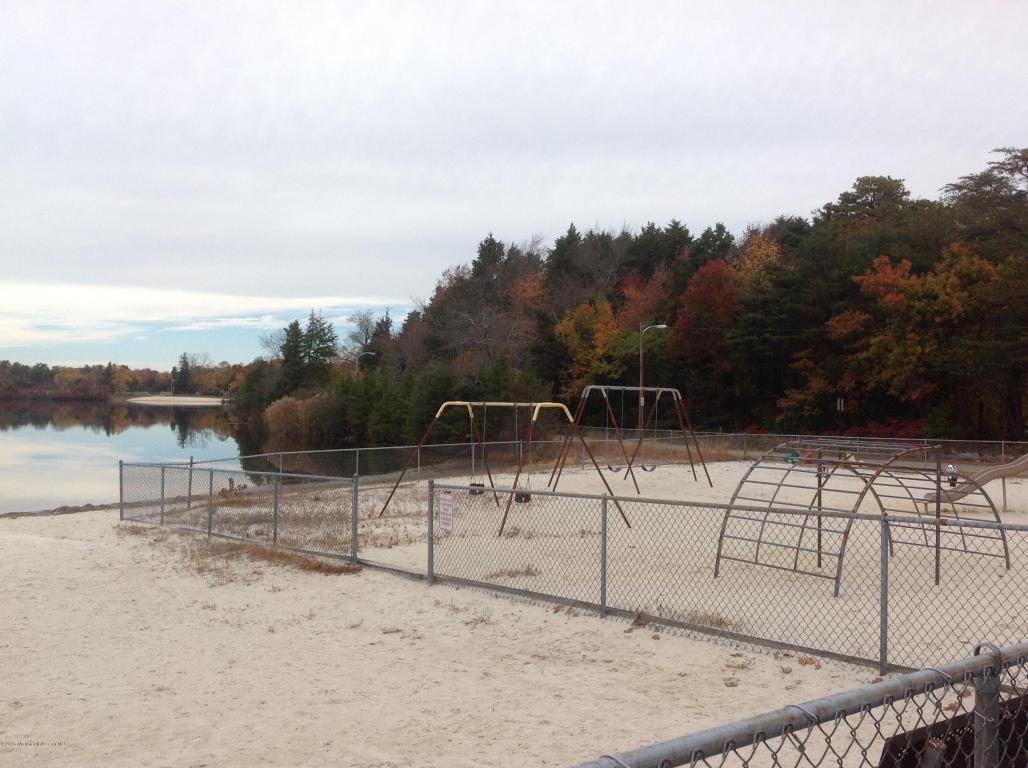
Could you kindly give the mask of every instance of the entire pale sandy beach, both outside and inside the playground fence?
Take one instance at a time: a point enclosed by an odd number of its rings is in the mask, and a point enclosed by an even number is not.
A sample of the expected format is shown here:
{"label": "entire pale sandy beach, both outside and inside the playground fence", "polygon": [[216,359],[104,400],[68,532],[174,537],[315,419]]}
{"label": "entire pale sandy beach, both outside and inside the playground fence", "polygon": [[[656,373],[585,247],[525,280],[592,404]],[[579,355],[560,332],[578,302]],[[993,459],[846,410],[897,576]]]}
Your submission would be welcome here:
{"label": "entire pale sandy beach, both outside and inside the playground fence", "polygon": [[[745,466],[712,464],[712,488],[688,468],[661,467],[641,478],[644,495],[724,502]],[[530,482],[545,486],[545,477]],[[616,492],[633,492],[623,479],[612,482]],[[302,509],[318,519],[339,516],[348,486],[336,484],[284,492],[283,519],[292,493],[305,493],[295,501],[316,504]],[[561,489],[594,492],[597,485],[596,475],[580,467]],[[1026,490],[1024,479],[1007,482],[1006,519],[1028,517]],[[379,518],[387,491],[362,490],[361,554],[424,571],[426,483],[404,486]],[[254,499],[261,493],[267,491]],[[266,524],[254,522],[249,504],[236,506],[242,501],[219,501],[219,524],[233,529],[238,516],[236,534],[263,543]],[[554,508],[546,505],[519,507],[510,536],[498,539],[488,499],[463,493],[455,502],[458,527],[436,548],[439,573],[568,597],[579,590],[595,600],[589,564],[595,519],[587,504],[561,507],[558,517],[548,516]],[[693,610],[692,596],[668,602],[674,594],[697,595],[695,605],[703,605],[702,595],[713,594],[709,548],[720,513],[695,516],[688,537],[668,539],[662,532],[672,529],[670,518],[658,508],[627,506],[633,528],[612,526],[612,601],[635,585],[653,590],[655,602],[642,609],[654,615]],[[201,507],[190,511],[170,501],[168,521],[206,517]],[[303,531],[297,544],[339,549],[348,524]],[[323,541],[310,539],[311,531]],[[469,546],[473,558],[462,550]],[[575,553],[582,558],[570,558]],[[1015,555],[1017,569],[1024,568],[1028,555],[1020,547]],[[212,550],[191,533],[119,522],[116,510],[0,519],[0,562],[4,765],[568,765],[875,678],[872,669],[839,661],[446,584],[429,587],[374,569],[299,570],[241,554],[235,544],[215,540]],[[853,612],[877,600],[860,562],[853,557],[847,566],[839,599],[798,601],[795,590],[807,589],[809,580],[778,579],[782,599],[794,607],[782,614],[792,617],[790,632],[804,611],[821,616],[810,626],[849,631]],[[469,563],[481,572],[468,571]],[[947,569],[947,588],[966,583],[965,569],[980,578],[977,559],[951,559]],[[926,566],[905,553],[896,570],[910,585],[909,594],[896,590],[896,610],[911,600],[911,608],[920,606],[928,593],[919,581]],[[684,589],[687,577],[692,586]],[[785,602],[745,598],[768,584],[765,571],[736,568],[718,582],[726,596],[719,617],[741,631],[749,622],[781,619],[764,614]],[[924,622],[935,620],[931,611],[918,615],[908,630],[911,644],[921,643]],[[961,652],[982,638],[984,625],[971,623],[958,638]],[[876,642],[871,629],[867,638],[861,632],[850,632],[853,643]]]}

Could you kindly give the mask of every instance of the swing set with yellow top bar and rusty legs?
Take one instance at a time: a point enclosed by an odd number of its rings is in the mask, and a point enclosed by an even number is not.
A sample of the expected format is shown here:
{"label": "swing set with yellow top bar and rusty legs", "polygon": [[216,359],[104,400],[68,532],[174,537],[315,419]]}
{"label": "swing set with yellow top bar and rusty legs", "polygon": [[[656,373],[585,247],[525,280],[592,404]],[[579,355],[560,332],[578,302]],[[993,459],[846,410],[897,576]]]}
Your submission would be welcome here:
{"label": "swing set with yellow top bar and rusty legs", "polygon": [[[396,493],[397,488],[400,487],[400,483],[403,482],[403,478],[407,474],[407,470],[410,469],[411,463],[414,461],[415,456],[417,455],[417,452],[421,449],[421,446],[424,446],[425,443],[427,443],[429,438],[432,436],[432,431],[435,429],[436,423],[439,420],[439,417],[442,416],[443,412],[446,411],[446,409],[448,408],[463,408],[468,413],[468,419],[471,424],[472,442],[479,442],[481,444],[482,464],[485,468],[485,474],[489,480],[489,488],[492,490],[492,497],[493,500],[495,501],[498,509],[500,507],[500,496],[497,492],[495,483],[493,483],[492,481],[492,471],[489,469],[488,460],[486,459],[485,455],[485,414],[487,413],[488,408],[513,408],[516,418],[519,409],[528,408],[531,410],[531,417],[529,418],[528,424],[525,427],[525,437],[524,437],[525,447],[524,450],[521,451],[520,456],[518,458],[517,471],[514,474],[514,482],[511,485],[511,491],[508,492],[507,505],[504,508],[503,519],[500,522],[499,535],[502,536],[504,533],[504,528],[507,525],[507,517],[510,514],[511,503],[517,502],[518,504],[527,504],[531,501],[530,490],[519,489],[518,482],[520,481],[521,473],[524,471],[525,465],[527,464],[529,456],[531,455],[531,438],[536,429],[536,424],[539,420],[540,412],[547,409],[557,410],[563,413],[564,416],[567,417],[568,424],[574,426],[574,419],[572,418],[572,414],[567,410],[567,406],[564,405],[563,403],[470,402],[466,400],[449,400],[443,403],[442,405],[439,406],[439,409],[436,411],[436,414],[432,417],[432,420],[429,423],[428,429],[425,430],[425,434],[421,436],[421,439],[417,442],[417,445],[414,446],[414,448],[410,451],[410,454],[407,456],[407,461],[403,465],[403,470],[401,470],[400,476],[397,477],[396,482],[393,484],[393,488],[390,490],[389,496],[386,498],[386,503],[382,505],[381,511],[378,513],[379,517],[386,514],[386,510],[389,508],[390,502],[393,501],[393,497]],[[480,434],[478,428],[475,425],[476,408],[481,408],[482,410],[483,428]],[[517,431],[516,427],[515,431]],[[517,438],[520,440],[520,435],[518,435]],[[586,444],[585,440],[582,439],[581,436],[579,436],[579,440],[582,443],[582,447],[585,448],[586,452],[589,454],[589,459],[592,460],[592,465],[593,467],[596,468],[596,473],[599,475],[600,480],[603,481],[603,486],[607,488],[607,492],[613,497],[614,490],[611,488],[610,483],[607,482],[607,478],[603,476],[603,471],[599,468],[599,465],[596,463],[596,458],[593,455],[592,450],[589,448],[589,446]],[[472,483],[472,486],[474,487],[469,491],[470,493],[478,496],[484,492],[484,483]],[[625,512],[621,508],[621,505],[618,503],[617,499],[613,501],[614,505],[618,508],[618,512],[621,514],[621,519],[625,521],[625,525],[631,527],[631,523],[628,522],[628,517],[627,515],[625,515]]]}

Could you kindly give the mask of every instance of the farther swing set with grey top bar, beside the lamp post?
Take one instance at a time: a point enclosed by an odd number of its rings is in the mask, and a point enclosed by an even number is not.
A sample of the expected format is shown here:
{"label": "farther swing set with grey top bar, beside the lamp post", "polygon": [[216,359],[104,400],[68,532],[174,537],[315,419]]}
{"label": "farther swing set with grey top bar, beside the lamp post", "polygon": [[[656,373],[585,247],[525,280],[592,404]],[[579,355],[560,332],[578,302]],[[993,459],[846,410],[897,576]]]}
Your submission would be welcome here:
{"label": "farther swing set with grey top bar, beside the lamp post", "polygon": [[[707,472],[706,463],[703,461],[703,452],[700,450],[700,444],[696,439],[696,433],[693,432],[692,420],[689,418],[689,411],[686,408],[685,400],[682,398],[682,393],[675,389],[669,387],[614,387],[609,385],[589,385],[582,390],[582,395],[579,398],[578,408],[575,411],[575,418],[572,419],[572,427],[567,434],[564,435],[564,440],[560,446],[560,452],[557,454],[557,461],[553,465],[553,470],[550,472],[550,480],[547,485],[551,486],[553,490],[557,489],[557,485],[560,482],[560,476],[563,474],[564,466],[567,464],[567,456],[571,453],[572,443],[576,437],[582,440],[580,434],[580,427],[582,425],[582,416],[585,413],[586,403],[589,397],[593,393],[599,393],[603,398],[603,404],[607,408],[607,417],[611,425],[614,427],[614,434],[618,440],[618,445],[621,446],[621,454],[625,460],[625,478],[631,477],[632,484],[635,486],[635,492],[640,493],[638,480],[635,479],[635,473],[632,471],[634,466],[638,466],[646,472],[653,472],[656,467],[647,467],[641,459],[639,459],[639,464],[635,465],[635,460],[640,458],[642,442],[646,436],[646,431],[650,425],[654,422],[657,415],[657,410],[660,407],[661,400],[664,396],[671,399],[671,404],[674,408],[674,414],[678,419],[678,433],[685,438],[686,453],[689,456],[689,467],[693,472],[693,479],[698,480],[696,475],[696,465],[693,463],[693,450],[689,445],[689,440],[692,438],[693,446],[696,448],[696,455],[699,459],[700,466],[703,467],[703,474],[706,476],[707,483],[710,487],[713,487],[713,482],[710,480],[710,473]],[[649,415],[647,416],[646,423],[642,425],[642,429],[639,431],[638,440],[635,443],[635,448],[632,450],[631,455],[628,453],[628,449],[625,447],[625,442],[622,437],[621,426],[618,423],[617,416],[614,414],[614,408],[611,407],[611,392],[621,393],[622,402],[622,413],[621,422],[624,423],[624,396],[625,393],[636,393],[639,398],[639,408],[646,406],[646,396],[649,393],[654,395],[653,408],[650,409]],[[673,438],[672,438],[673,439]],[[585,441],[582,440],[582,444]],[[595,461],[595,460],[594,460]],[[620,472],[620,467],[612,467],[608,465],[608,468],[612,471]]]}

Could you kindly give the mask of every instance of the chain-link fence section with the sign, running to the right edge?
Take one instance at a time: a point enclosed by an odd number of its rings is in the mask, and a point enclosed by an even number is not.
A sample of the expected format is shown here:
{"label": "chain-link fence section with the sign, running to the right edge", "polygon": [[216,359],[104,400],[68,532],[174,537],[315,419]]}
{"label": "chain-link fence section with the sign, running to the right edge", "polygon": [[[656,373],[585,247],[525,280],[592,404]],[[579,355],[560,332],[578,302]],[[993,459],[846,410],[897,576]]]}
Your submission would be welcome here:
{"label": "chain-link fence section with the sign, running to the right edge", "polygon": [[[517,501],[520,499],[520,501]],[[734,508],[735,513],[745,511]],[[906,526],[932,536],[926,518],[823,513],[838,549],[797,551],[788,528],[810,526],[797,510],[749,510],[765,528],[727,541],[736,558],[715,573],[727,508],[718,504],[490,490],[432,483],[432,578],[556,598],[600,614],[698,629],[889,669],[952,658],[982,635],[1025,638],[1028,526],[950,521],[945,535],[965,548],[893,547]],[[844,533],[845,532],[845,533]],[[988,536],[983,534],[988,533]],[[997,536],[1011,564],[985,556]],[[774,550],[760,556],[755,547]],[[980,549],[981,548],[981,549]],[[940,558],[935,583],[935,557]],[[982,555],[982,556],[979,556]],[[794,568],[804,558],[801,571]],[[835,577],[841,569],[840,591]]]}

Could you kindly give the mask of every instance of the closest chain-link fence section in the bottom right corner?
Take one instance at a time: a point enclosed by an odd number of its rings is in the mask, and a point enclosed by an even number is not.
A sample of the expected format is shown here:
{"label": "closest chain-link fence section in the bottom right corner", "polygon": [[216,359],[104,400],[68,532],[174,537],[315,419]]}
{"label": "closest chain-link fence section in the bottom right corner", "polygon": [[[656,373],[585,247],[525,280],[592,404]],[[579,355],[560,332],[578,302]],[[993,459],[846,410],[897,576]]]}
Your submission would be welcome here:
{"label": "closest chain-link fence section in the bottom right corner", "polygon": [[793,704],[579,768],[1028,765],[1028,645]]}

